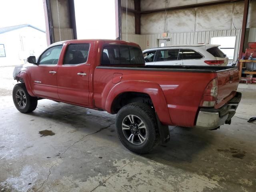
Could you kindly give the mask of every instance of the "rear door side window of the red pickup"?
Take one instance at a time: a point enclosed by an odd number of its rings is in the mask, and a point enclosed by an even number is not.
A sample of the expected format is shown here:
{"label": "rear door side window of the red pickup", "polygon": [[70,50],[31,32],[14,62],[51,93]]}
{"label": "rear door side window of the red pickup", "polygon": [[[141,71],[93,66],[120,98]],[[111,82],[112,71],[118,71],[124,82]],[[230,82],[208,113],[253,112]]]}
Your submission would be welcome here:
{"label": "rear door side window of the red pickup", "polygon": [[64,65],[77,65],[87,61],[90,44],[70,44],[66,49]]}

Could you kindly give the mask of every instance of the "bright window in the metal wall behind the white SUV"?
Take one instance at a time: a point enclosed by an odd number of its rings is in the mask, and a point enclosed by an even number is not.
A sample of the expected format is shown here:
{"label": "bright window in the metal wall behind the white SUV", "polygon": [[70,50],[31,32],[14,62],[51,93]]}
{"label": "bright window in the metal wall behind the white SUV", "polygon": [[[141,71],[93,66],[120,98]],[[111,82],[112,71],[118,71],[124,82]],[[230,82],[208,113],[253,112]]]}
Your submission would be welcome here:
{"label": "bright window in the metal wall behind the white SUV", "polygon": [[227,55],[228,60],[234,60],[236,36],[212,37],[211,44],[220,45],[219,48]]}

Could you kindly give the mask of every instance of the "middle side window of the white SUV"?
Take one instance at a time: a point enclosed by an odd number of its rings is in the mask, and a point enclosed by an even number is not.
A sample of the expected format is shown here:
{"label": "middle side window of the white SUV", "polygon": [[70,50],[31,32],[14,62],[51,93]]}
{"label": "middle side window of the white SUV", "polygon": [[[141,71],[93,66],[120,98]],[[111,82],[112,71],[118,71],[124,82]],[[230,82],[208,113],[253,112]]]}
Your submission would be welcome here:
{"label": "middle side window of the white SUV", "polygon": [[156,61],[178,60],[179,49],[158,50]]}

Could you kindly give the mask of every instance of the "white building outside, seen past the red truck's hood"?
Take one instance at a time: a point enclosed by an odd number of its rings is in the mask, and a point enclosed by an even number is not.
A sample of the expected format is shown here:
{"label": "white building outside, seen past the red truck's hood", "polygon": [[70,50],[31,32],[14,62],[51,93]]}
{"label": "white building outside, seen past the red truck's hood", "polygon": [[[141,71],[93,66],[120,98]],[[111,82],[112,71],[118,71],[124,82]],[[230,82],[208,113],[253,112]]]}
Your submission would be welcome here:
{"label": "white building outside, seen past the red truck's hood", "polygon": [[47,47],[46,33],[29,24],[0,28],[0,66],[25,64]]}

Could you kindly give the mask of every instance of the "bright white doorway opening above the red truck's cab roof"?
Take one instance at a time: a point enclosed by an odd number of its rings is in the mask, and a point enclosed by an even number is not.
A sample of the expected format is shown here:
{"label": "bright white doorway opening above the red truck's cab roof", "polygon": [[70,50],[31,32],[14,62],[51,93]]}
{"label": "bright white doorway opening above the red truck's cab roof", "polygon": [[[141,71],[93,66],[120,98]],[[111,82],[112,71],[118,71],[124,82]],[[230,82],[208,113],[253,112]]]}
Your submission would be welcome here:
{"label": "bright white doorway opening above the red truck's cab roof", "polygon": [[115,39],[115,0],[75,0],[78,39]]}

